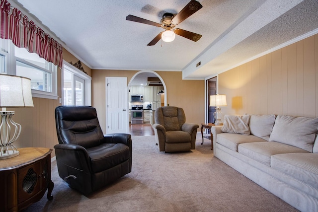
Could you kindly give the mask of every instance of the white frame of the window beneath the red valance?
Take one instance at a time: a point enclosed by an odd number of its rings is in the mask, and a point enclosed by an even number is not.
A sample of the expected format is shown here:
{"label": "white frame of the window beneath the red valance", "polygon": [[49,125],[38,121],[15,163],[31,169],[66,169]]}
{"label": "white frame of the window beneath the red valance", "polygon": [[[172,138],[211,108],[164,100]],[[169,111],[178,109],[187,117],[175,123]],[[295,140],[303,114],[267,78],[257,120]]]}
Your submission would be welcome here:
{"label": "white frame of the window beneath the red valance", "polygon": [[[12,43],[11,40],[6,40],[6,39],[2,39],[4,41],[7,41],[7,45],[8,45],[8,53],[1,51],[0,50],[0,54],[5,55],[5,65],[4,65],[4,70],[5,73],[7,74],[11,74],[11,75],[16,75],[16,60],[21,61],[22,63],[26,63],[29,64],[32,67],[36,67],[40,70],[43,70],[43,68],[41,67],[37,67],[34,64],[30,64],[27,61],[15,57],[14,55],[14,44]],[[37,98],[46,98],[46,99],[58,99],[58,95],[57,95],[57,69],[58,67],[56,66],[56,68],[54,70],[52,70],[52,92],[47,92],[47,91],[41,91],[41,90],[35,90],[32,89],[32,97],[37,97]]]}

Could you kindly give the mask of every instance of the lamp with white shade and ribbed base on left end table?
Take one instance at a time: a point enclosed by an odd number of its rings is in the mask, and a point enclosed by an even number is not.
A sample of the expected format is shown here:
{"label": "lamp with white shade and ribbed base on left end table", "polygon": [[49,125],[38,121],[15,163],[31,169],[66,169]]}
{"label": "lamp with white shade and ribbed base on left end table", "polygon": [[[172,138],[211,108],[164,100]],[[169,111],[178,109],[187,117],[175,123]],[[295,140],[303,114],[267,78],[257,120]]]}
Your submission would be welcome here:
{"label": "lamp with white shade and ribbed base on left end table", "polygon": [[21,125],[12,120],[14,111],[6,111],[8,107],[33,107],[31,79],[8,74],[0,74],[0,159],[19,155],[12,144],[21,133]]}

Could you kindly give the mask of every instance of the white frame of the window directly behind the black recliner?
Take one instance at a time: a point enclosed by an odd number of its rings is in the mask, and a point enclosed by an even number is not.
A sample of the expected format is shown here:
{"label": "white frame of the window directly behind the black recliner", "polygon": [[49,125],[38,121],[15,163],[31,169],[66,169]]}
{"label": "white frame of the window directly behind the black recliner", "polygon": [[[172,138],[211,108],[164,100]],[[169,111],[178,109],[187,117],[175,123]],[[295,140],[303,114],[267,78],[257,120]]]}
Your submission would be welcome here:
{"label": "white frame of the window directly behind the black recliner", "polygon": [[63,67],[62,67],[62,72],[61,72],[61,93],[62,93],[62,98],[60,99],[60,103],[63,104],[64,100],[64,68],[67,68],[67,71],[72,72],[74,75],[78,76],[81,79],[84,79],[85,81],[85,89],[84,89],[84,105],[91,106],[91,76],[87,75],[83,71],[80,71],[78,68],[74,67],[73,65],[69,64],[67,61],[63,60]]}

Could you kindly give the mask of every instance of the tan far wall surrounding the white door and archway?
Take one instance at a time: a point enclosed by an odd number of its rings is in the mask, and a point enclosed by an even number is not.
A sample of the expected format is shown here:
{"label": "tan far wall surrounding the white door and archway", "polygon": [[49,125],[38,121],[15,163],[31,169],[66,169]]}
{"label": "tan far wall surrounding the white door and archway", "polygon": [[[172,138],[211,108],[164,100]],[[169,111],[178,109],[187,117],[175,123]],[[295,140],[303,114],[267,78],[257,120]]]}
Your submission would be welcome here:
{"label": "tan far wall surrounding the white door and archway", "polygon": [[[96,108],[100,125],[106,133],[105,77],[127,77],[127,85],[138,71],[92,70],[92,106]],[[182,80],[182,72],[156,71],[166,85],[169,106],[182,107],[189,123],[204,122],[204,80]],[[195,103],[195,104],[193,104]]]}

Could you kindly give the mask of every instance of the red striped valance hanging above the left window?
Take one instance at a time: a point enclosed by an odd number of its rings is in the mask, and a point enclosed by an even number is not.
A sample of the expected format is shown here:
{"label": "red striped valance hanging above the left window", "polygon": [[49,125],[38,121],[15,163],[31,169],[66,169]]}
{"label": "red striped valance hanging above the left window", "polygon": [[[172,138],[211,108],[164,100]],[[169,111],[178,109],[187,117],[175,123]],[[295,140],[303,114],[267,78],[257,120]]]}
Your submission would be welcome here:
{"label": "red striped valance hanging above the left window", "polygon": [[10,39],[15,46],[26,48],[29,52],[36,53],[41,58],[62,68],[62,45],[35,25],[21,11],[12,7],[7,0],[1,0],[0,24],[1,38]]}

